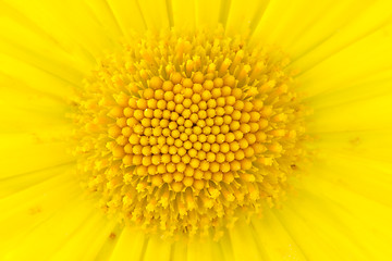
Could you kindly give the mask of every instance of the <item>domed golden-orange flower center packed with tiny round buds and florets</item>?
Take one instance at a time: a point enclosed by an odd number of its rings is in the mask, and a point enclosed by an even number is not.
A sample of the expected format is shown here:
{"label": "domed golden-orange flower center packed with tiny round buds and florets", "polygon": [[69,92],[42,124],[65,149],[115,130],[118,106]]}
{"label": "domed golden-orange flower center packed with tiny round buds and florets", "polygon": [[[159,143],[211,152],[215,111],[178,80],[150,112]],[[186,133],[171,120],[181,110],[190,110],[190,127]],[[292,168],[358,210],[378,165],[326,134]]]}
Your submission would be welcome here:
{"label": "domed golden-orange flower center packed with tiny round buds and florets", "polygon": [[85,186],[125,223],[170,236],[219,236],[260,213],[305,153],[287,63],[222,30],[128,44],[76,101]]}

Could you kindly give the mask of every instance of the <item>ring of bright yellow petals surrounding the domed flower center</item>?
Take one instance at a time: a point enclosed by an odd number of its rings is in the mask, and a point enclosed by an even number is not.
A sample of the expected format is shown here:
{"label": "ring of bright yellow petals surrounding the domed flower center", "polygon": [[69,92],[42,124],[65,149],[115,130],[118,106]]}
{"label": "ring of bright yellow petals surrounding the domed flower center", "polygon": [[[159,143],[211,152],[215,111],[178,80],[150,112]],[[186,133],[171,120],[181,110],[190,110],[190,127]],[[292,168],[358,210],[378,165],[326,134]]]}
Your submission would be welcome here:
{"label": "ring of bright yellow petals surrounding the domed flower center", "polygon": [[[392,256],[391,1],[3,0],[0,10],[0,260]],[[70,97],[136,33],[220,24],[290,57],[316,156],[281,208],[218,241],[123,227],[79,185]]]}

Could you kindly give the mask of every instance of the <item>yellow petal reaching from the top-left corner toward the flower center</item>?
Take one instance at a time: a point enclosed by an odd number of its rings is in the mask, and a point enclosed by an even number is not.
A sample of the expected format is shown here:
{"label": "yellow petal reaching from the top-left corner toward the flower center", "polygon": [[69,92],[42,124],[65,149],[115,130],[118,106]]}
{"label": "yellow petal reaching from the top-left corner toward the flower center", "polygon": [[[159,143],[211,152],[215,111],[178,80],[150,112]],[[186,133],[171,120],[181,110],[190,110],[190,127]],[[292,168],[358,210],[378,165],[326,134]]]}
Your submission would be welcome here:
{"label": "yellow petal reaching from the top-left corner toward the flower center", "polygon": [[87,61],[94,62],[105,49],[113,48],[113,39],[107,37],[88,5],[82,1],[61,4],[42,1],[39,9],[35,3],[23,0],[5,1],[5,4],[35,23],[70,53],[76,53]]}

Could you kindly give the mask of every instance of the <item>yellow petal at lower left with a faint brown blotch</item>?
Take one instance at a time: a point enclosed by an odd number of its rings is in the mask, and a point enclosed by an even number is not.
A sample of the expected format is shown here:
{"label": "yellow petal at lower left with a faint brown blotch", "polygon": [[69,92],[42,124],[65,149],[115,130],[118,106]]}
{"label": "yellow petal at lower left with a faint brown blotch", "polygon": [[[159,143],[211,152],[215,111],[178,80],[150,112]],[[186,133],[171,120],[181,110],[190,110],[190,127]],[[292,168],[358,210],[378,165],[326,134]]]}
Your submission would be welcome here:
{"label": "yellow petal at lower left with a faint brown blotch", "polygon": [[[54,169],[51,174],[42,183],[0,199],[1,257],[32,256],[35,251],[42,254],[46,247],[44,240],[53,240],[54,244],[57,237],[71,232],[66,222],[79,222],[78,216],[84,211],[77,206],[83,202],[82,209],[86,209],[86,201],[79,197],[76,200],[81,189],[70,175],[70,169],[61,173]],[[41,245],[37,238],[40,238]]]}

